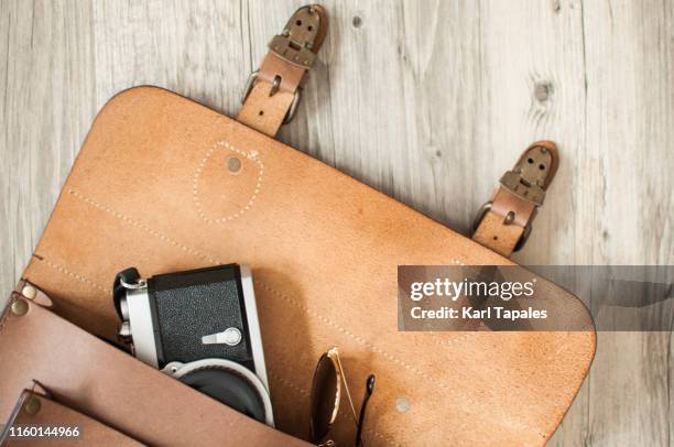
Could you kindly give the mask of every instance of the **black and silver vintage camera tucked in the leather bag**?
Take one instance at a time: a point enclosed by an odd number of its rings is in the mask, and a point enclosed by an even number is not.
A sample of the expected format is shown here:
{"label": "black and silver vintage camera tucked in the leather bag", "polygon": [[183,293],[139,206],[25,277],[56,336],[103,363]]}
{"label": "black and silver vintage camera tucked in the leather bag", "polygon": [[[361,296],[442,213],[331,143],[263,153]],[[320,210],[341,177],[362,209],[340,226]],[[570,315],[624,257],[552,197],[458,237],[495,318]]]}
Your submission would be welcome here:
{"label": "black and silver vintage camera tucked in the leather bag", "polygon": [[120,339],[143,362],[273,427],[250,268],[115,280]]}

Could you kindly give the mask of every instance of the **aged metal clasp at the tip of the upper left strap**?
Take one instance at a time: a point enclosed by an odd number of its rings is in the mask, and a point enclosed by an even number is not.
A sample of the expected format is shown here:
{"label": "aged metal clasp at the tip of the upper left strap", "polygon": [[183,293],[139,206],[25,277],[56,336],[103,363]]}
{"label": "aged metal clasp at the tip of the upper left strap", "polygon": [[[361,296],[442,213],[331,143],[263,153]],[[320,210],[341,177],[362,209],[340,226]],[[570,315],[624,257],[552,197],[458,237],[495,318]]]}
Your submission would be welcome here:
{"label": "aged metal clasp at the tip of the upper left strap", "polygon": [[283,32],[275,35],[269,48],[283,61],[309,69],[316,61],[314,44],[320,32],[320,14],[313,7],[293,13]]}

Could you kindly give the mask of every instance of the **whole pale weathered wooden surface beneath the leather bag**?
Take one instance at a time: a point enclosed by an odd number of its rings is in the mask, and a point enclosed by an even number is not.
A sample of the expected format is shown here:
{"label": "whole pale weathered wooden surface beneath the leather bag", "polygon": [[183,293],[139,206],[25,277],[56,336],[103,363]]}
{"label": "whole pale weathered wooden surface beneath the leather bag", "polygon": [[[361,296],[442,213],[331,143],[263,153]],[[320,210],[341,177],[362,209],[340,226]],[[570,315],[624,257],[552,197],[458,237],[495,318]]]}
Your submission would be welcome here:
{"label": "whole pale weathered wooden surface beneath the leather bag", "polygon": [[[226,115],[294,1],[0,0],[0,287],[96,111],[152,84]],[[674,4],[329,1],[280,139],[467,232],[532,141],[562,164],[530,264],[674,263]],[[553,445],[674,445],[671,332],[602,332]]]}

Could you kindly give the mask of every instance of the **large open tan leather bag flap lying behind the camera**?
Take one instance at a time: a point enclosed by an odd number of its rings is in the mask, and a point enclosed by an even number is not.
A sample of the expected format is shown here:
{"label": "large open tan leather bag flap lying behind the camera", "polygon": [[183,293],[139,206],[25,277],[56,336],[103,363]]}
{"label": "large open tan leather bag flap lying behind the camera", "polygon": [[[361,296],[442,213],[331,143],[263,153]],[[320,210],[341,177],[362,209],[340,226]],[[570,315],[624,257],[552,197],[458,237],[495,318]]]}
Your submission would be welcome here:
{"label": "large open tan leather bag flap lying behind the camera", "polygon": [[[399,264],[511,261],[152,87],[118,95],[98,115],[25,276],[55,312],[113,337],[118,271],[227,262],[253,268],[276,423],[296,436],[307,434],[313,368],[331,345],[357,395],[377,374],[370,445],[543,443],[595,351],[594,332],[399,332]],[[396,410],[400,397],[410,411]],[[350,443],[352,422],[338,419],[338,440]]]}

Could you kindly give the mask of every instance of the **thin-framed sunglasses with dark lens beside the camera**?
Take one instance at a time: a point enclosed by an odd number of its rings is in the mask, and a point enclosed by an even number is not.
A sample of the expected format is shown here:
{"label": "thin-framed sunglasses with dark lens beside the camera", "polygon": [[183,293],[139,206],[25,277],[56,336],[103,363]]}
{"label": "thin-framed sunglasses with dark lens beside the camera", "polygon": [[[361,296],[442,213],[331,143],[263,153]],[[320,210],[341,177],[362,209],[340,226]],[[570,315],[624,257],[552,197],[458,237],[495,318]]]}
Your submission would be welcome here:
{"label": "thin-framed sunglasses with dark lens beside the camera", "polygon": [[374,374],[368,377],[366,393],[362,404],[360,404],[360,413],[357,416],[349,385],[344,375],[344,368],[341,368],[341,361],[339,360],[339,351],[337,347],[333,347],[320,356],[312,383],[309,433],[312,443],[318,444],[320,447],[335,446],[335,441],[329,438],[329,433],[339,412],[343,385],[357,427],[356,446],[365,446],[362,441],[362,424],[365,423],[368,401],[374,391]]}

